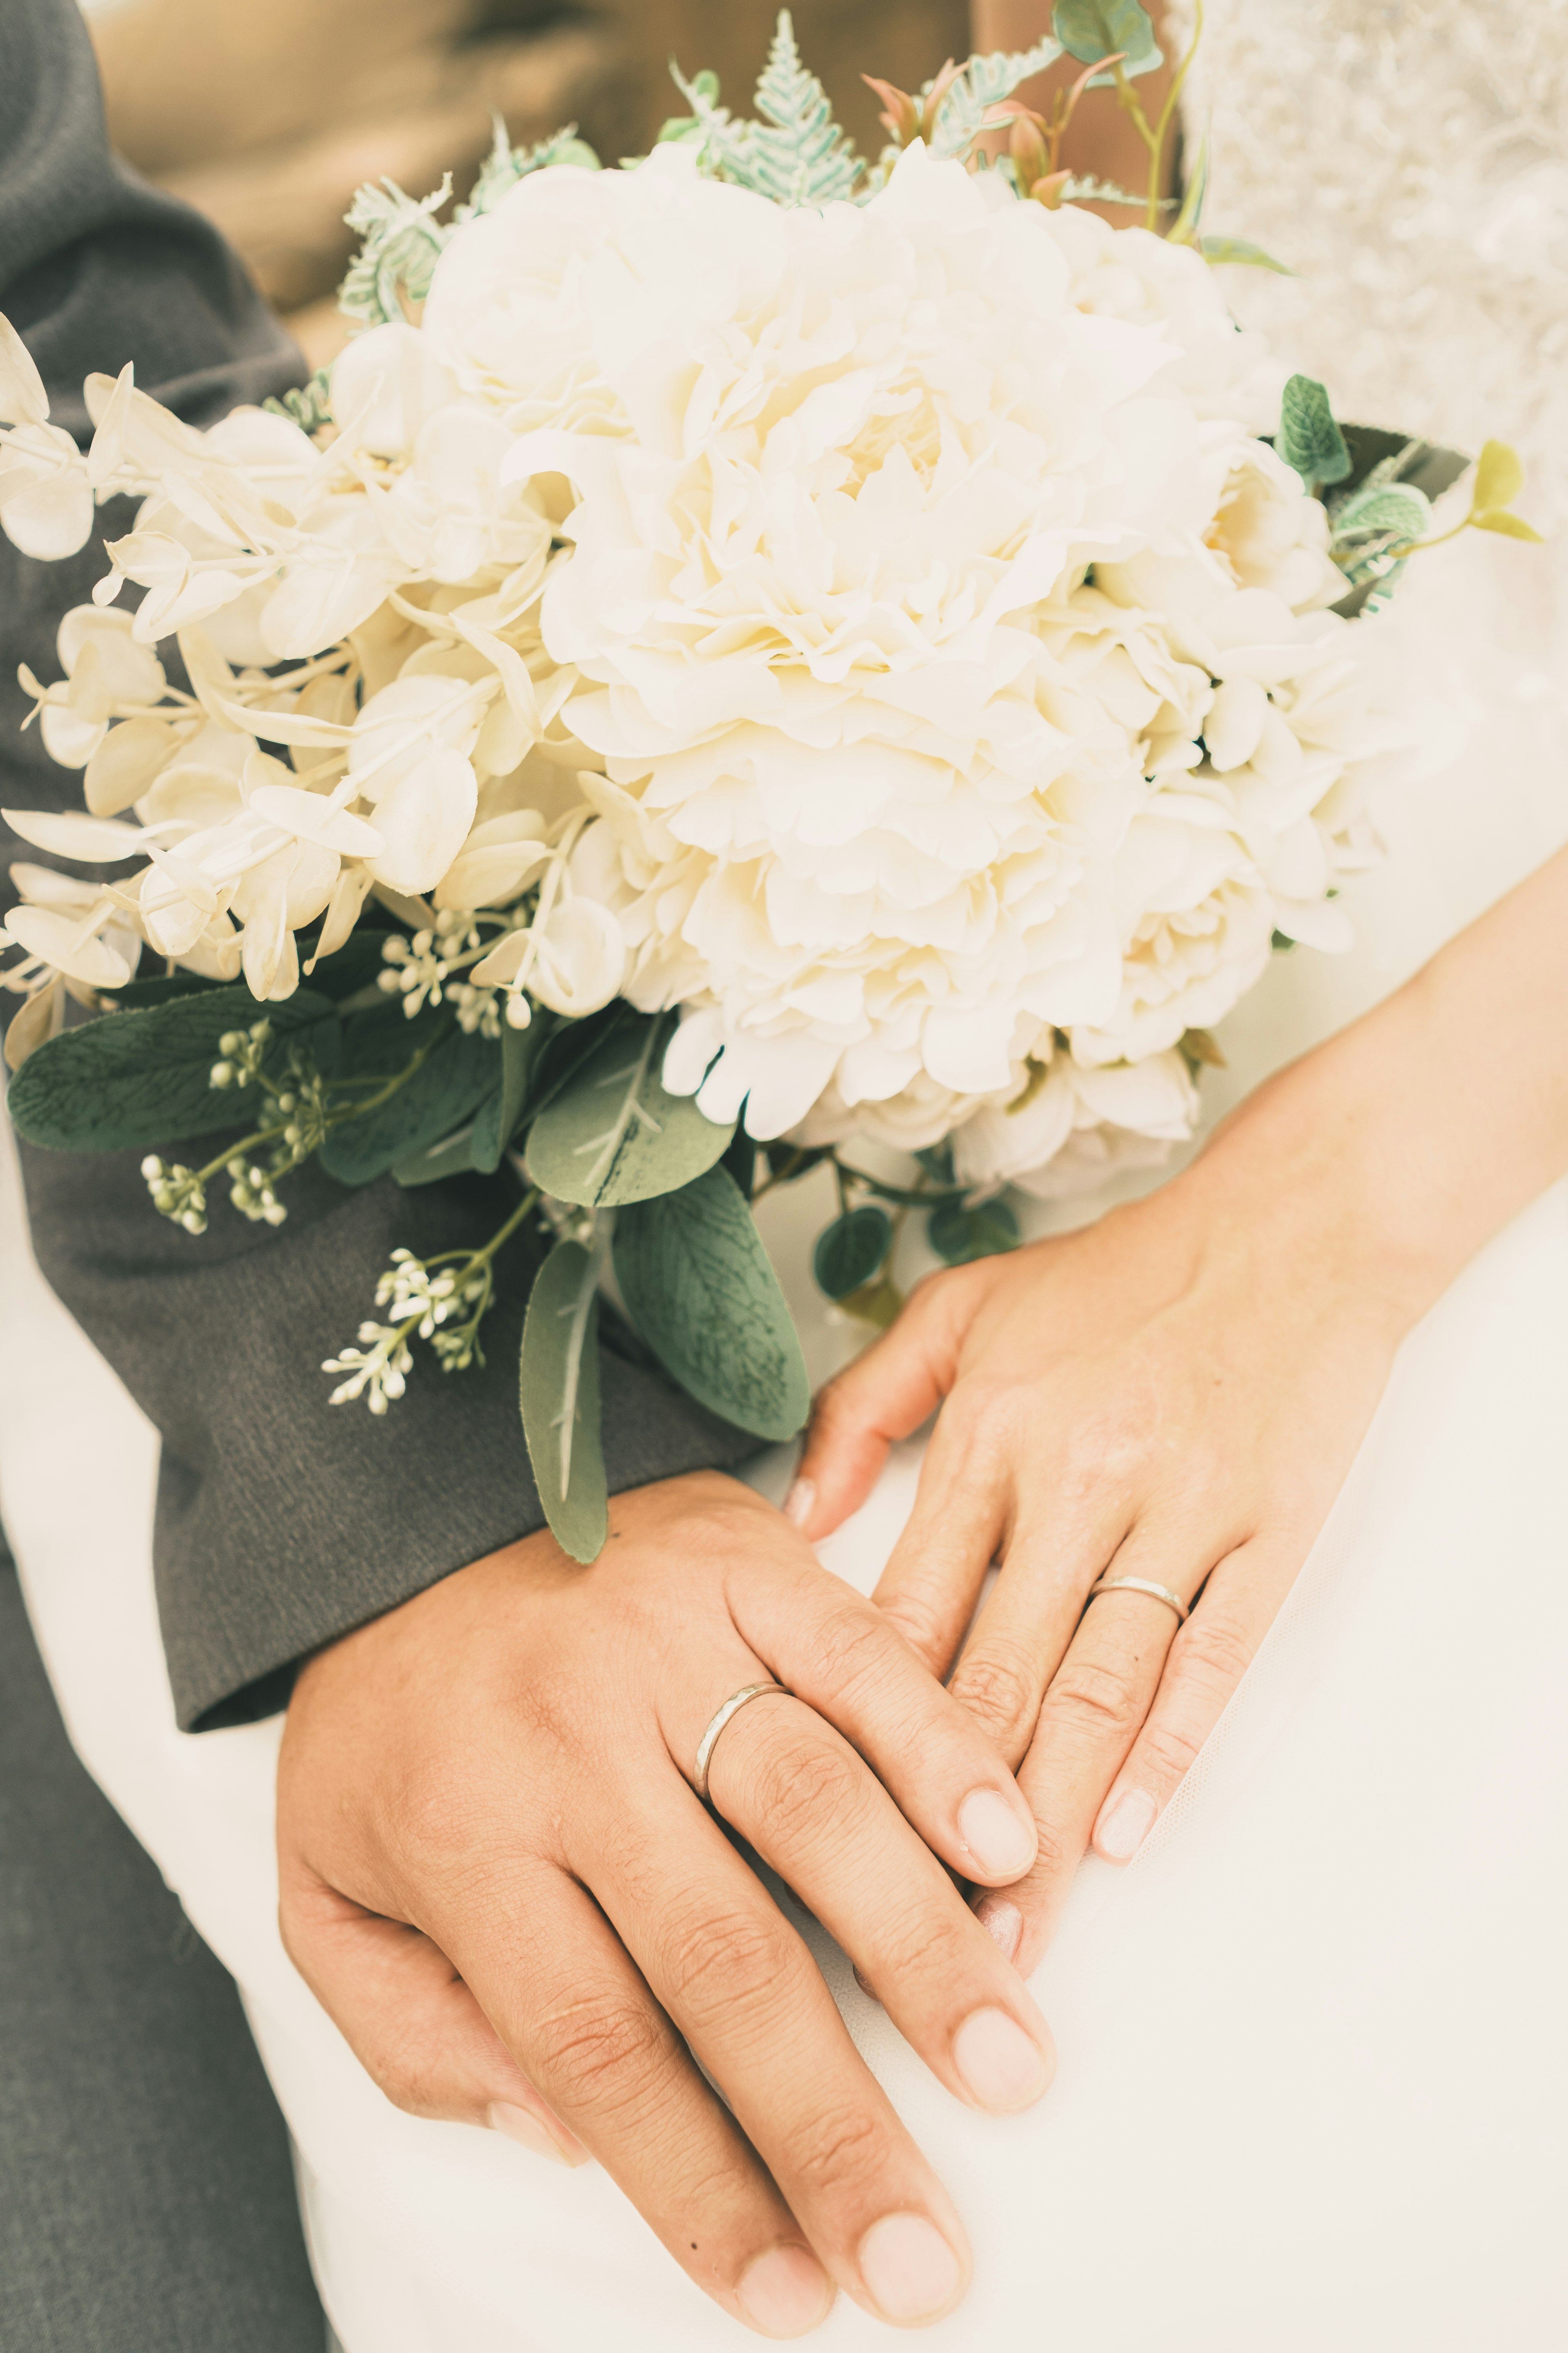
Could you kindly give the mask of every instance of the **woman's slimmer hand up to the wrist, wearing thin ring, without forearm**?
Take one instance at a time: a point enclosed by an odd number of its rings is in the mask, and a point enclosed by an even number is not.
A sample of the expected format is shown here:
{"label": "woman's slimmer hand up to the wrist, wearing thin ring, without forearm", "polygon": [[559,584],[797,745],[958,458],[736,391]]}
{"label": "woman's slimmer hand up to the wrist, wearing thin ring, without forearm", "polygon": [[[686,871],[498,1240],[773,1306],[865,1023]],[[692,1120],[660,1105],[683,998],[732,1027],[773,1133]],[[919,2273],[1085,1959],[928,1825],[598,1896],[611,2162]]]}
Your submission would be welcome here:
{"label": "woman's slimmer hand up to the wrist, wearing thin ring, without forearm", "polygon": [[[1401,1318],[1288,1198],[1199,1169],[1084,1233],[929,1278],[818,1400],[825,1534],[945,1400],[877,1600],[997,1739],[1039,1859],[980,1906],[1027,1974],[1093,1835],[1126,1861],[1291,1588],[1382,1393]],[[802,1504],[795,1504],[802,1513]],[[1192,1605],[1182,1624],[1138,1577]],[[1201,1598],[1199,1598],[1201,1595]]]}

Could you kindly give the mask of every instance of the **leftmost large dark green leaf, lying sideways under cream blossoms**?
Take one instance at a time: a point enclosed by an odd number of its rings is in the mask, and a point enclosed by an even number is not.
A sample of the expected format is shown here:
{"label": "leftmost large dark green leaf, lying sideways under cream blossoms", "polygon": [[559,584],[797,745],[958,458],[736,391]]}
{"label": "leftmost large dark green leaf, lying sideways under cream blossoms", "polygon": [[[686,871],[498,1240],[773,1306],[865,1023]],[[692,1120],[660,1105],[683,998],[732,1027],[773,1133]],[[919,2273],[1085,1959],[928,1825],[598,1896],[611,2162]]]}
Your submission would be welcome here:
{"label": "leftmost large dark green leaf, lying sideways under cream blossoms", "polygon": [[59,1153],[113,1153],[256,1125],[266,1099],[209,1078],[219,1038],[261,1019],[273,1024],[268,1061],[282,1061],[292,1038],[336,1031],[331,1000],[308,988],[280,1005],[259,1005],[249,988],[202,988],[103,1014],[28,1056],[9,1087],[12,1120],[31,1144]]}

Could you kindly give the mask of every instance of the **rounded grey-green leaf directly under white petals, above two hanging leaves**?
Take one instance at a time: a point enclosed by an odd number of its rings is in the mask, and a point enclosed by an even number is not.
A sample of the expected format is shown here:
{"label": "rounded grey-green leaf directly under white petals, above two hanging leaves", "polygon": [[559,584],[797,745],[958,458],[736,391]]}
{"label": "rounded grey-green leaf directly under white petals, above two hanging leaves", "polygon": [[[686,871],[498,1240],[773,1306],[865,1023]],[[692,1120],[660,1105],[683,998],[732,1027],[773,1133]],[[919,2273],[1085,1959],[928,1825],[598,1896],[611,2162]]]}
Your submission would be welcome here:
{"label": "rounded grey-green leaf directly under white petals, above two hanging leaves", "polygon": [[677,1193],[722,1158],[736,1122],[668,1094],[658,1068],[670,1014],[618,1021],[529,1129],[529,1176],[588,1209]]}

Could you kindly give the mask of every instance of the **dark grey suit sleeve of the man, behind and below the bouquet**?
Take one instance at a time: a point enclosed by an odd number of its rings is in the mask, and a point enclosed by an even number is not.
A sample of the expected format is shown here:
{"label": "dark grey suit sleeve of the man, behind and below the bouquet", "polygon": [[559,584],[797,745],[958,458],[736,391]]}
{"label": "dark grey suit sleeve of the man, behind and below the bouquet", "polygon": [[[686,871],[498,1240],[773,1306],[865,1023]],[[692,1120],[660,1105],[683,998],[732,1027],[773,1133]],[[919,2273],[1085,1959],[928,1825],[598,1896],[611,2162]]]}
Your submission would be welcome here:
{"label": "dark grey suit sleeve of the man, behind and below the bouquet", "polygon": [[[5,31],[0,311],[38,360],[54,421],[85,435],[82,376],[127,360],[190,424],[299,384],[299,353],[216,231],[110,158],[73,0],[9,0]],[[106,536],[125,527],[106,511]],[[96,546],[35,565],[0,541],[9,807],[80,805],[80,776],[45,758],[35,729],[16,732],[14,678],[19,661],[56,675],[59,616],[101,569]],[[7,864],[14,854],[7,842]],[[202,1139],[200,1155],[216,1148]],[[402,1193],[390,1181],[343,1191],[306,1169],[289,1184],[287,1226],[249,1226],[221,1202],[200,1238],[153,1212],[134,1153],[24,1148],[24,1176],[45,1275],[162,1438],[158,1602],[186,1729],[282,1706],[306,1652],[543,1527],[517,1421],[536,1245],[517,1238],[498,1266],[484,1367],[442,1374],[418,1351],[381,1421],[362,1405],[329,1407],[317,1372],[369,1313],[390,1249],[487,1240],[515,1200],[510,1176]],[[611,1492],[755,1449],[675,1391],[614,1318],[604,1339]]]}

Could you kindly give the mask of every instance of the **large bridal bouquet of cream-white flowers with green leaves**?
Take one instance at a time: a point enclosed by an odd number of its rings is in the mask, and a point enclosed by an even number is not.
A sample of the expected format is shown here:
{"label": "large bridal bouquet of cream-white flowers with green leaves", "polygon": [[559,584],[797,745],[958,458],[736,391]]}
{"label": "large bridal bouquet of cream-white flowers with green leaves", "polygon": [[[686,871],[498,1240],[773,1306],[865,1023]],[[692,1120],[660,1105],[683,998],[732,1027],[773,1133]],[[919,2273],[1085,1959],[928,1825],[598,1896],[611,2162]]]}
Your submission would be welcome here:
{"label": "large bridal bouquet of cream-white flowers with green leaves", "polygon": [[[1060,0],[1025,54],[872,85],[867,167],[780,14],[757,120],[677,73],[644,160],[498,132],[449,219],[449,186],[362,191],[360,332],[205,433],[127,367],[82,456],[0,322],[16,546],[141,499],[63,678],[21,673],[87,807],[9,824],[103,878],[14,868],[12,1115],[146,1151],[190,1233],[221,1181],[282,1221],[310,1155],[404,1186],[510,1155],[494,1240],[397,1252],[324,1369],[386,1412],[411,1341],[465,1367],[545,1221],[522,1424],[576,1558],[607,1254],[668,1372],[788,1438],[759,1184],[832,1165],[816,1275],[884,1320],[905,1219],[961,1261],[1018,1238],[1004,1186],[1161,1155],[1269,953],[1349,936],[1399,736],[1352,614],[1462,461],[1340,428],[1232,325],[1211,264],[1267,256],[1204,235],[1201,158],[1161,205],[1154,64],[1135,0]],[[1093,87],[1147,195],[1060,167]],[[1523,534],[1516,487],[1488,445],[1469,520]]]}

